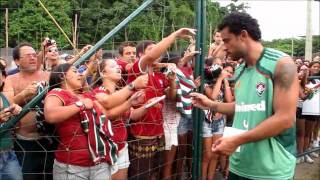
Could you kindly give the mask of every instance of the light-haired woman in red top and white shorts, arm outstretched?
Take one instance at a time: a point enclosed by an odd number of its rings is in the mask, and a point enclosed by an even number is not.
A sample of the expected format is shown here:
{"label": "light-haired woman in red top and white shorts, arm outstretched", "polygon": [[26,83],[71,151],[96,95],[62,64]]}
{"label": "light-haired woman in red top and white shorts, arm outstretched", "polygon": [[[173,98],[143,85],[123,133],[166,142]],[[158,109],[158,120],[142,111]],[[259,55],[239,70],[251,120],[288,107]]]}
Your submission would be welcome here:
{"label": "light-haired woman in red top and white shorts, arm outstretched", "polygon": [[[108,102],[110,95],[117,95],[114,99],[120,100],[123,97],[128,97],[131,93],[126,88],[119,90],[118,82],[121,81],[121,70],[119,65],[114,59],[103,59],[99,62],[98,71],[94,76],[93,83],[96,88],[94,92],[97,96],[101,96],[102,101]],[[135,84],[134,88],[140,88],[138,86],[145,86],[148,77],[146,75],[139,76],[130,86]],[[120,99],[119,99],[120,98]],[[110,99],[110,98],[109,98]],[[133,99],[136,99],[133,101]],[[106,111],[108,118],[112,121],[112,131],[115,132],[113,136],[114,142],[118,145],[118,160],[115,165],[112,166],[111,173],[112,179],[127,179],[129,162],[128,144],[127,144],[127,129],[126,124],[129,119],[136,119],[143,116],[145,108],[138,109],[131,108],[142,103],[144,97],[142,92],[138,92],[135,96],[132,96],[129,100],[122,102],[117,108],[110,109],[111,105],[106,104]]]}

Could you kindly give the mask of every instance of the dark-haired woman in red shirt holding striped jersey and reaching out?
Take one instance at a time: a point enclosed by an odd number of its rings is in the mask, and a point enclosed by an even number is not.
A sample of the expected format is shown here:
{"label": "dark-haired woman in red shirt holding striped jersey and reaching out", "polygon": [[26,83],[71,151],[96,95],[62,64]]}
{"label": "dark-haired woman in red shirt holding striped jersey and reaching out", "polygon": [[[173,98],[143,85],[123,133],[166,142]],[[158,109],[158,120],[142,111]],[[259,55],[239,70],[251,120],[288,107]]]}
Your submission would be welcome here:
{"label": "dark-haired woman in red shirt holding striped jersey and reaching out", "polygon": [[[45,117],[47,122],[56,125],[60,140],[55,153],[53,178],[111,179],[110,165],[116,162],[118,147],[113,140],[111,122],[106,116],[115,114],[104,108],[117,108],[133,94],[133,90],[125,87],[122,96],[97,97],[100,104],[95,94],[83,91],[85,83],[82,74],[67,63],[53,69],[49,84]],[[135,86],[139,89],[143,83]],[[130,101],[134,101],[135,97],[132,96]]]}

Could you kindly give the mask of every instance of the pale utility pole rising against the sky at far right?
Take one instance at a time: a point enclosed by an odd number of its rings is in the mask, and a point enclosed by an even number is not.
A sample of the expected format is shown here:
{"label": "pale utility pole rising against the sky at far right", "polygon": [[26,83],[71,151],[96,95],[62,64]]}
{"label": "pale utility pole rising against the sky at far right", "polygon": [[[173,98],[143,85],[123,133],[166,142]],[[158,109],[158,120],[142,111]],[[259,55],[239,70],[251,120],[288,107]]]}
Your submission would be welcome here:
{"label": "pale utility pole rising against the sky at far right", "polygon": [[306,46],[305,60],[312,60],[312,1],[307,0],[307,27],[306,27]]}

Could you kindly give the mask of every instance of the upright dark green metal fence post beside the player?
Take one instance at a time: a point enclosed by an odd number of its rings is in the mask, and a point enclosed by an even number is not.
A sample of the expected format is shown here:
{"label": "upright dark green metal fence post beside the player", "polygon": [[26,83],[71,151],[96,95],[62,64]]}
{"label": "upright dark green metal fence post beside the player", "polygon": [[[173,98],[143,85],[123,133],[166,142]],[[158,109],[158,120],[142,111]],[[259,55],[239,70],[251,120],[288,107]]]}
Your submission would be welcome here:
{"label": "upright dark green metal fence post beside the player", "polygon": [[[204,77],[204,57],[205,57],[205,26],[206,26],[206,1],[197,1],[196,10],[196,26],[197,26],[197,36],[196,36],[196,49],[201,53],[196,57],[195,66],[195,78],[198,76]],[[199,87],[199,92],[203,92],[203,81]],[[199,108],[194,108],[192,112],[193,118],[193,150],[192,150],[192,179],[201,179],[201,159],[202,159],[202,122],[203,122],[203,111]]]}

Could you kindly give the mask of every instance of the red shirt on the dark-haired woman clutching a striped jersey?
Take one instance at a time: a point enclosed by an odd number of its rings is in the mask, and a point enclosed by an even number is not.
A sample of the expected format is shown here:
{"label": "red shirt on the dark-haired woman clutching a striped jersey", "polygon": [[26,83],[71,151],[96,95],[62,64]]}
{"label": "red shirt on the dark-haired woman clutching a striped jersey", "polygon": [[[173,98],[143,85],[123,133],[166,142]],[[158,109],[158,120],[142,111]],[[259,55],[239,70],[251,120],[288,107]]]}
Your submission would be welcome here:
{"label": "red shirt on the dark-haired woman clutching a striped jersey", "polygon": [[[79,101],[79,98],[63,89],[53,89],[47,96],[56,96],[64,106],[69,106]],[[55,158],[62,163],[77,166],[94,166],[88,149],[88,137],[81,127],[80,113],[56,124],[60,144],[55,152]],[[104,161],[109,161],[105,159]]]}

